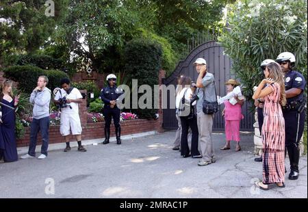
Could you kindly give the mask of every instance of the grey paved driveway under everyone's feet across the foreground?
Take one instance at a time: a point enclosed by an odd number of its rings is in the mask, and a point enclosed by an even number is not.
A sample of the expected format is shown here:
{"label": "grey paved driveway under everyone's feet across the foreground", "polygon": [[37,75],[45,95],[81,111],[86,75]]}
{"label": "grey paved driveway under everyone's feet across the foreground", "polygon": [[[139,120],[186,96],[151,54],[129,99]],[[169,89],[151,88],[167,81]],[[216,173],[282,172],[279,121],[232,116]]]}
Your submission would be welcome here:
{"label": "grey paved driveway under everyone's feet across the foreground", "polygon": [[300,158],[297,181],[288,172],[285,188],[255,189],[262,163],[254,161],[252,133],[241,134],[240,152],[234,143],[219,150],[224,134],[214,133],[217,161],[204,167],[172,150],[175,131],[143,136],[89,145],[86,153],[64,153],[60,144],[47,159],[0,164],[0,198],[307,198],[307,156]]}

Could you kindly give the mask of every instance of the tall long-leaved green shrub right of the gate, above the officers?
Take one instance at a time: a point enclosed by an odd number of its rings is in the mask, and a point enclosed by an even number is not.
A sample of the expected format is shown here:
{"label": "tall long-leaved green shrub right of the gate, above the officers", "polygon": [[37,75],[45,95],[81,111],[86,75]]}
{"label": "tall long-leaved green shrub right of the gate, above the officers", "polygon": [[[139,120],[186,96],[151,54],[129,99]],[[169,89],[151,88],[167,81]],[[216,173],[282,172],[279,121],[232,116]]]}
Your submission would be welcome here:
{"label": "tall long-leaved green shrub right of the gate, above the officers", "polygon": [[284,51],[294,53],[296,69],[307,78],[307,1],[239,1],[230,6],[228,20],[230,29],[219,41],[248,99],[264,77],[261,62]]}

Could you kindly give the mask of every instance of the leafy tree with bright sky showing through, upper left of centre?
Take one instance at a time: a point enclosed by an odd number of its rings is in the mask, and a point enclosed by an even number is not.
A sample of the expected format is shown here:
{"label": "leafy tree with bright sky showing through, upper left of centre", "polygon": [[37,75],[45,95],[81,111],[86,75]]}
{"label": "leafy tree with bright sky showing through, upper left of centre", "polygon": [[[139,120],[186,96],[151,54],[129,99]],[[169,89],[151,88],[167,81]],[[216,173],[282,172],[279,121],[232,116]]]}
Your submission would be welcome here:
{"label": "leafy tree with bright sky showing through, upper left of centre", "polygon": [[119,64],[114,58],[120,57],[125,37],[134,25],[133,15],[120,0],[70,0],[58,35],[68,43],[78,69],[90,66],[110,72]]}

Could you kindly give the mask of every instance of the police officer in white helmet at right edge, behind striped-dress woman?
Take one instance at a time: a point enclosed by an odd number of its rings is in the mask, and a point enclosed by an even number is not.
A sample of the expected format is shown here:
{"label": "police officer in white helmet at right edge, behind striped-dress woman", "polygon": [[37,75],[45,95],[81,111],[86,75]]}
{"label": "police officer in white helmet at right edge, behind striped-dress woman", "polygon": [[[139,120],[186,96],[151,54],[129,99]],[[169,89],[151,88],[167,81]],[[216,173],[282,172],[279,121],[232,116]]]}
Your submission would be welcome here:
{"label": "police officer in white helmet at right edge, behind striped-dress woman", "polygon": [[[298,161],[300,157],[299,142],[303,135],[305,124],[305,96],[306,81],[300,72],[294,69],[295,57],[290,52],[278,55],[276,62],[281,66],[285,75],[285,95],[287,105],[283,107],[285,118],[285,148],[290,159],[290,180],[298,179]],[[285,153],[286,154],[286,153]]]}

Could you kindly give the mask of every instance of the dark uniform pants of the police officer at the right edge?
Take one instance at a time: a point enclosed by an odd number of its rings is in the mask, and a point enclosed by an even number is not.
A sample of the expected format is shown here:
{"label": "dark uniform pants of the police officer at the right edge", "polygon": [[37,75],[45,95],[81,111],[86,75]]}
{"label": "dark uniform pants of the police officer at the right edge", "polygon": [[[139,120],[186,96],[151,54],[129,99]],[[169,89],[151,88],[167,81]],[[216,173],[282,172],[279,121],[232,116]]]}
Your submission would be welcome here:
{"label": "dark uniform pants of the police officer at the right edge", "polygon": [[304,132],[305,111],[300,114],[297,111],[284,111],[283,117],[285,118],[285,151],[289,155],[290,169],[298,172],[300,157],[298,144]]}

